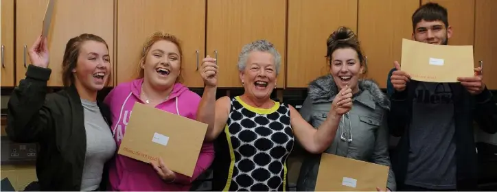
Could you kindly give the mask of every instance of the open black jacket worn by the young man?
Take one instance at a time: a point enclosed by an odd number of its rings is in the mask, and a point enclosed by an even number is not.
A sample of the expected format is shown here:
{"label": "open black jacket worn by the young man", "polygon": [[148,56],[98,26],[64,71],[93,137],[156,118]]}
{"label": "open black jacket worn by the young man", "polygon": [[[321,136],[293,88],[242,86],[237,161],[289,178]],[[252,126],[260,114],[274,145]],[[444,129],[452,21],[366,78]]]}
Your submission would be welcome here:
{"label": "open black jacket worn by the young man", "polygon": [[[393,171],[397,188],[402,189],[406,178],[409,136],[408,129],[413,116],[413,98],[418,82],[411,80],[406,90],[395,92],[391,97],[389,128],[393,136],[402,136],[397,145],[397,158],[393,160]],[[479,95],[471,95],[460,83],[450,83],[454,101],[456,141],[456,179],[458,191],[476,190],[478,182],[478,161],[474,143],[473,121],[490,134],[497,132],[497,105],[492,93],[485,88]]]}

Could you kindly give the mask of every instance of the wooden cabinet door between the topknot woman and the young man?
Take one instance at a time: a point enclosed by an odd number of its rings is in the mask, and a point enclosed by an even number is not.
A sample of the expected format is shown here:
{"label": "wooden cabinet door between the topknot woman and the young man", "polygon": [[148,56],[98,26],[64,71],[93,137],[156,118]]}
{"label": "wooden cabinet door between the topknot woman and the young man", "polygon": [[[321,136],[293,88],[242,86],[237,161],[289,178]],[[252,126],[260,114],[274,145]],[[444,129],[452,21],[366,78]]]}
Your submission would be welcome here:
{"label": "wooden cabinet door between the topknot woman and the young man", "polygon": [[402,38],[411,39],[411,16],[419,0],[359,0],[358,36],[367,60],[367,78],[386,88],[393,62],[400,62]]}

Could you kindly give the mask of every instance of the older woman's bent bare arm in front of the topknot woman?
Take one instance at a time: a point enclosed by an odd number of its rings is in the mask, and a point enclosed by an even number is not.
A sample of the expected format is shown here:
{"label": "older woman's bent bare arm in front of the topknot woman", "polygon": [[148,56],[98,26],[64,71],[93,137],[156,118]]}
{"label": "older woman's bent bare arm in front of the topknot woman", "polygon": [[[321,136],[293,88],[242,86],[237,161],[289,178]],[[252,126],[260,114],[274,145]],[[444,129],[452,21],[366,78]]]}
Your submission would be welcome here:
{"label": "older woman's bent bare arm in front of the topknot woman", "polygon": [[295,108],[290,108],[290,123],[299,143],[308,152],[320,154],[333,142],[336,130],[340,124],[342,115],[351,110],[352,93],[351,89],[343,88],[332,102],[332,108],[328,116],[319,128],[314,129],[310,123],[305,121]]}

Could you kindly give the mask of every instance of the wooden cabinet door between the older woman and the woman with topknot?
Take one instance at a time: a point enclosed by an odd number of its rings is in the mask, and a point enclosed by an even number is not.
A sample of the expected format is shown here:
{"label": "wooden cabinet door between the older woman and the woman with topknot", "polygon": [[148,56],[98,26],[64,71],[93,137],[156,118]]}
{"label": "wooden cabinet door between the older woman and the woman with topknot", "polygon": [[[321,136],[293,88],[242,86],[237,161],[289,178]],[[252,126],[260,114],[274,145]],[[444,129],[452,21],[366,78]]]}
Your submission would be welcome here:
{"label": "wooden cabinet door between the older woman and the woman with topknot", "polygon": [[357,0],[289,0],[286,86],[304,88],[330,73],[327,38],[344,25],[357,32]]}

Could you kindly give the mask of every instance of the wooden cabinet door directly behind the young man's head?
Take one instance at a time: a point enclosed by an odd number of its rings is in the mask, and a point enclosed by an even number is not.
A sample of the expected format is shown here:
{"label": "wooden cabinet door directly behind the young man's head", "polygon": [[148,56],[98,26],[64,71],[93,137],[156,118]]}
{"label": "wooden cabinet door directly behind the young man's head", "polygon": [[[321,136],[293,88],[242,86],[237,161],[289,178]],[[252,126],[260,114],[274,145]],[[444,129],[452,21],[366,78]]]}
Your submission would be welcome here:
{"label": "wooden cabinet door directly behind the young man's head", "polygon": [[475,0],[421,0],[421,4],[428,2],[439,3],[447,9],[449,25],[452,26],[449,45],[474,44]]}

